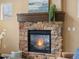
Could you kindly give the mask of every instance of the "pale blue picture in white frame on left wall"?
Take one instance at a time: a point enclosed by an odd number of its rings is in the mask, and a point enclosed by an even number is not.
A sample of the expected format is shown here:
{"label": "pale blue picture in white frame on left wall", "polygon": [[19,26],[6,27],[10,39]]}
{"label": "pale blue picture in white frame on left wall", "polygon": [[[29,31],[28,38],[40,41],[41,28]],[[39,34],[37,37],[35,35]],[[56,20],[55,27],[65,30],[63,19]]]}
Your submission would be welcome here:
{"label": "pale blue picture in white frame on left wall", "polygon": [[10,19],[13,14],[13,7],[12,3],[2,3],[0,6],[0,19],[5,20],[5,19]]}

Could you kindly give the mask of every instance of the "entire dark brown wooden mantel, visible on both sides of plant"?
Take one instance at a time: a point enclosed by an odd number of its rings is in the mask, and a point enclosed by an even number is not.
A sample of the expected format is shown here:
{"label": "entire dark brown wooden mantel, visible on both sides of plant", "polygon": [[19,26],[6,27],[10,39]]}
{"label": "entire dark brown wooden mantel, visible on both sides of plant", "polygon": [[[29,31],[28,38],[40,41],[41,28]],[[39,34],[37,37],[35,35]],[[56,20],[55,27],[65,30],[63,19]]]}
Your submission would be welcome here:
{"label": "entire dark brown wooden mantel, visible on both sides of plant", "polygon": [[[43,22],[49,21],[48,13],[21,13],[17,14],[19,22]],[[65,13],[63,11],[56,12],[56,21],[64,21]]]}

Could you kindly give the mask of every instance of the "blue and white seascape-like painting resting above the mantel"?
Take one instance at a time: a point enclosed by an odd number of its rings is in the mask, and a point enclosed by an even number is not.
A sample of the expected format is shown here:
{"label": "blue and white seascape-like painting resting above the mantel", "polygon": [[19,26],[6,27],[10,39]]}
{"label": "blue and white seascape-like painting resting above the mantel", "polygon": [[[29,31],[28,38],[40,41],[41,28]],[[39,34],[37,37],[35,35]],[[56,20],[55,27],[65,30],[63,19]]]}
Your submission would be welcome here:
{"label": "blue and white seascape-like painting resting above the mantel", "polygon": [[29,13],[48,12],[50,0],[29,0]]}

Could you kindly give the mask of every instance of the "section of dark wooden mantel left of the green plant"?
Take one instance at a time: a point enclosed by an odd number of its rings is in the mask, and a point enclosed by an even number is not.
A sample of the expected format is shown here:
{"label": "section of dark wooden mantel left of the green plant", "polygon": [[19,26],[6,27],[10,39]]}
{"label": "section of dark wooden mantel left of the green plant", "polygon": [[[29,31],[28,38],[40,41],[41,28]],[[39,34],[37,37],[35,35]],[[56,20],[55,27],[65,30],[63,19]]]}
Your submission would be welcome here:
{"label": "section of dark wooden mantel left of the green plant", "polygon": [[23,13],[17,17],[19,22],[48,21],[48,13]]}

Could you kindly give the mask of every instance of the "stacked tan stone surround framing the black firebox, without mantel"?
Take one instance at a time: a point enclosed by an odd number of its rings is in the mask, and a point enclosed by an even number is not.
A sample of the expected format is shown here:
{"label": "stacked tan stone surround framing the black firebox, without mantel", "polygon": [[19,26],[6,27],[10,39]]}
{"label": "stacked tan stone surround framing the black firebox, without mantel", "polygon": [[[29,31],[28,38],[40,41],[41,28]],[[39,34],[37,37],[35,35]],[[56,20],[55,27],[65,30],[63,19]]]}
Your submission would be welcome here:
{"label": "stacked tan stone surround framing the black firebox, without mantel", "polygon": [[20,22],[20,50],[28,51],[28,30],[51,30],[51,52],[59,52],[62,50],[62,22]]}

